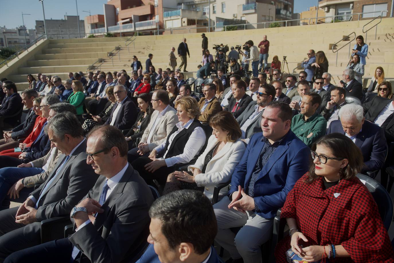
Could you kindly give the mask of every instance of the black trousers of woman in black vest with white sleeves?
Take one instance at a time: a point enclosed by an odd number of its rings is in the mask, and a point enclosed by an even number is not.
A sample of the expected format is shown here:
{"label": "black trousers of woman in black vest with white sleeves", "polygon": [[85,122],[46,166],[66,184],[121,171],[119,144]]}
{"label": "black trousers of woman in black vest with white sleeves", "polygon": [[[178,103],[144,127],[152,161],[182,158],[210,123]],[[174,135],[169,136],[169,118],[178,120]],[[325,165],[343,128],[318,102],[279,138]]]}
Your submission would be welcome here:
{"label": "black trousers of woman in black vest with white sleeves", "polygon": [[134,160],[131,165],[135,170],[138,171],[139,175],[141,175],[148,185],[153,185],[153,180],[157,180],[160,185],[164,185],[165,181],[167,181],[167,176],[175,171],[175,167],[162,166],[152,173],[145,170],[144,167],[145,164],[149,164],[150,162],[152,162],[152,160],[148,157],[139,157],[138,159]]}

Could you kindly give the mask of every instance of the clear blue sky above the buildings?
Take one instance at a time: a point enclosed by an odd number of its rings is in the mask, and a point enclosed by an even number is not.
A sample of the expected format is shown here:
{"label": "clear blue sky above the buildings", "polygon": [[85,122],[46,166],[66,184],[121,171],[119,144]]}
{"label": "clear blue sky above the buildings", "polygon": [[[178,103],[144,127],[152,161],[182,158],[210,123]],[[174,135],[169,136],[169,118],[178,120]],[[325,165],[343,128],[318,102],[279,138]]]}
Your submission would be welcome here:
{"label": "clear blue sky above the buildings", "polygon": [[[103,14],[102,4],[107,0],[76,0],[78,14],[83,20],[91,11],[92,15]],[[165,1],[165,0],[164,0]],[[233,0],[238,1],[238,0]],[[306,11],[310,6],[316,6],[317,0],[294,0],[294,13]],[[16,28],[22,25],[22,12],[26,28],[34,29],[36,20],[43,20],[43,9],[38,0],[0,0],[0,26]],[[64,15],[76,15],[74,0],[44,0],[45,19],[64,19]]]}

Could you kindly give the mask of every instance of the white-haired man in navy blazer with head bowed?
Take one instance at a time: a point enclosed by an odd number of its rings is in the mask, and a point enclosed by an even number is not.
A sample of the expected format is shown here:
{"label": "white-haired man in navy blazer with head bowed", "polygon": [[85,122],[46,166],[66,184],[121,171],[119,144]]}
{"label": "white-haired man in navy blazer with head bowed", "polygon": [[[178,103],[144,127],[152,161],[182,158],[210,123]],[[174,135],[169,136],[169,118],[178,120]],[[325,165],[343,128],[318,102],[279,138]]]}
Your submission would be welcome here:
{"label": "white-haired man in navy blazer with head bowed", "polygon": [[339,110],[339,120],[332,121],[326,134],[339,132],[348,136],[361,150],[364,167],[361,173],[383,168],[387,141],[382,128],[365,121],[361,105],[346,104]]}

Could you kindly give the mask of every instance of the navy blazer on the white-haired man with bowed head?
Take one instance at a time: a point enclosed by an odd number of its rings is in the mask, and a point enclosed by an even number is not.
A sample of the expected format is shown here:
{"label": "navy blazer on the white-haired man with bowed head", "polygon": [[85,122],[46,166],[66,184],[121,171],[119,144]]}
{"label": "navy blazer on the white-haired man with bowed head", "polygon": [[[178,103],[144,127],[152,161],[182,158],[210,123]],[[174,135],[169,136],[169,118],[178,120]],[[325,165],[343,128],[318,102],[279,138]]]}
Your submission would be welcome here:
{"label": "navy blazer on the white-haired man with bowed head", "polygon": [[[331,121],[326,134],[339,132],[345,134],[341,121]],[[357,134],[355,145],[360,148],[364,158],[362,173],[379,170],[383,168],[388,151],[385,131],[376,124],[365,120],[361,132]]]}

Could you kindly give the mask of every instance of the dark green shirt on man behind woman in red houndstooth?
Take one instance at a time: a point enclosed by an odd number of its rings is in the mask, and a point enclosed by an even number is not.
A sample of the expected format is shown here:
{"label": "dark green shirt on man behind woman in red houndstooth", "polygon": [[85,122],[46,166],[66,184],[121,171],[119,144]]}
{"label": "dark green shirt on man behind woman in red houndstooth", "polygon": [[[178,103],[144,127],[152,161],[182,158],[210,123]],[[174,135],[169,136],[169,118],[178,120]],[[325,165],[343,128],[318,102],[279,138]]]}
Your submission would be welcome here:
{"label": "dark green shirt on man behind woman in red houndstooth", "polygon": [[[310,116],[307,121],[305,121],[303,114],[297,114],[292,119],[291,130],[310,147],[318,138],[325,134],[326,126],[327,121],[325,118],[317,113]],[[307,138],[311,132],[313,135]]]}

